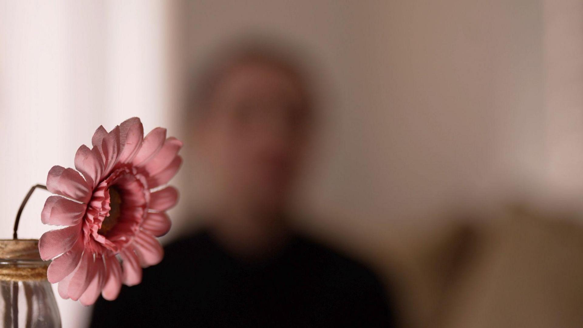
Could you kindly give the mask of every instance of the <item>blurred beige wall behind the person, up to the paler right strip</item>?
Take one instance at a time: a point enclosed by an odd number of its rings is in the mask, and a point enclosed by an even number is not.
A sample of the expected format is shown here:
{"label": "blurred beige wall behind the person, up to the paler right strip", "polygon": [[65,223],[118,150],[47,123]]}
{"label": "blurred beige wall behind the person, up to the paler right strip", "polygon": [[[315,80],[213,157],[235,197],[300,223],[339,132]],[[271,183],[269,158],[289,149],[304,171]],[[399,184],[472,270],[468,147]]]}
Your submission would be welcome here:
{"label": "blurred beige wall behind the person, up to the paler right strip", "polygon": [[318,232],[337,230],[331,235],[372,249],[395,222],[435,222],[452,206],[545,183],[538,1],[182,8],[195,64],[248,30],[289,37],[318,58],[333,99],[305,187],[304,208],[321,218],[308,225]]}

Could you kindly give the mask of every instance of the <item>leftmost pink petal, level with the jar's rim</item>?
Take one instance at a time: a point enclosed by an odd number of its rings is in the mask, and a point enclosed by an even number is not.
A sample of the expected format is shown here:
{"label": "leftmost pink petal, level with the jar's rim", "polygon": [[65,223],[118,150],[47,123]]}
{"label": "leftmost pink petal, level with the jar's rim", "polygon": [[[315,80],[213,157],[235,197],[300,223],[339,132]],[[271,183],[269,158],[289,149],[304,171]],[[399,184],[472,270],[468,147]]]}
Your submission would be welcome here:
{"label": "leftmost pink petal, level with the jar's rim", "polygon": [[67,252],[75,245],[81,236],[81,225],[73,225],[64,229],[51,230],[43,233],[38,240],[38,252],[43,260]]}

